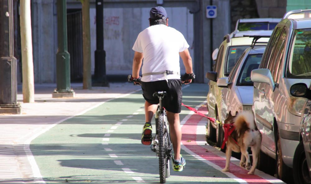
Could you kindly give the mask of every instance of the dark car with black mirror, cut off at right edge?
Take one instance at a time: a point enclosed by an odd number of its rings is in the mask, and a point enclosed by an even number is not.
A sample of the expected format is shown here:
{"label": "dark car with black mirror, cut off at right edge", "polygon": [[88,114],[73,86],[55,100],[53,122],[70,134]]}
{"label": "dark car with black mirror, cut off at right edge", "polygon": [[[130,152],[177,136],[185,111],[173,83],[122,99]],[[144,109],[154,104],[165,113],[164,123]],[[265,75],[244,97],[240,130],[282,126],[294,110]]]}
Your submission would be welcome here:
{"label": "dark car with black mirror, cut off at right edge", "polygon": [[308,99],[302,108],[299,144],[293,159],[293,177],[295,184],[311,183],[311,90],[304,83],[297,83],[290,87],[290,94]]}

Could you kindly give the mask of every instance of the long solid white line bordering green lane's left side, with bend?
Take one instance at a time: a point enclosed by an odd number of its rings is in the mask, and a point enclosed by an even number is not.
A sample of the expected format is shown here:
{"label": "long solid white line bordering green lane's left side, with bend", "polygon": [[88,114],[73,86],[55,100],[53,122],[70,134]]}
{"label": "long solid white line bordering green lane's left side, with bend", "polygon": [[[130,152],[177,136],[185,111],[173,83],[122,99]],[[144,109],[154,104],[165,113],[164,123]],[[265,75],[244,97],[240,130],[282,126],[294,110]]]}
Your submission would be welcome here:
{"label": "long solid white line bordering green lane's left side, with bend", "polygon": [[[84,114],[84,113],[90,111],[91,109],[94,109],[94,108],[96,108],[96,107],[99,107],[100,105],[102,105],[102,104],[104,104],[104,103],[106,103],[106,102],[109,102],[109,101],[114,100],[114,99],[126,97],[126,96],[128,96],[128,95],[130,95],[130,94],[133,94],[133,93],[136,93],[137,91],[140,91],[140,90],[142,90],[142,89],[135,90],[135,91],[133,91],[133,92],[131,92],[131,93],[123,94],[123,95],[120,95],[120,96],[115,97],[115,98],[108,99],[108,100],[106,100],[106,101],[104,101],[104,102],[100,102],[100,103],[94,105],[93,107],[87,108],[87,109],[81,111],[80,113],[77,113],[76,115],[73,115],[73,116],[70,116],[70,117],[66,117],[66,118],[64,118],[64,119],[62,119],[62,120],[60,120],[60,121],[58,121],[58,122],[56,122],[56,123],[51,124],[50,126],[44,128],[43,130],[41,130],[41,131],[39,131],[39,132],[35,132],[35,133],[33,134],[33,136],[31,136],[29,139],[27,139],[27,140],[24,142],[24,151],[25,151],[26,156],[27,156],[27,158],[28,158],[28,161],[29,161],[29,163],[30,163],[31,170],[32,170],[32,173],[33,173],[33,177],[36,178],[36,180],[37,180],[36,183],[38,183],[38,182],[39,182],[39,183],[45,183],[45,182],[44,182],[44,180],[43,180],[43,178],[42,178],[42,175],[41,175],[41,173],[40,173],[40,169],[39,169],[39,167],[38,167],[38,164],[37,164],[37,162],[35,161],[35,157],[34,157],[34,155],[32,154],[32,152],[31,152],[31,150],[30,150],[30,142],[31,142],[32,140],[34,140],[36,137],[38,137],[39,135],[43,134],[44,132],[50,130],[51,128],[55,127],[57,124],[66,121],[67,119],[70,119],[70,118],[75,117],[75,116],[80,116],[80,115],[82,115],[82,114]],[[21,139],[25,139],[25,137],[21,137]]]}

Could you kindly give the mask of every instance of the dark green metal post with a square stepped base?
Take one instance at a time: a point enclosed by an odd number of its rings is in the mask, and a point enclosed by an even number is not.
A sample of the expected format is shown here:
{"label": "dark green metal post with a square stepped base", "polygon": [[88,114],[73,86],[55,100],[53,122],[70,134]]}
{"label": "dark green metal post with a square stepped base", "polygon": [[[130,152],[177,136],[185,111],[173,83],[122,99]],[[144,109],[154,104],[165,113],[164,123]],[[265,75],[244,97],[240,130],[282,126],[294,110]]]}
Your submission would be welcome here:
{"label": "dark green metal post with a square stepped base", "polygon": [[67,6],[66,0],[57,0],[56,83],[53,98],[74,97],[70,89],[70,55],[67,51]]}

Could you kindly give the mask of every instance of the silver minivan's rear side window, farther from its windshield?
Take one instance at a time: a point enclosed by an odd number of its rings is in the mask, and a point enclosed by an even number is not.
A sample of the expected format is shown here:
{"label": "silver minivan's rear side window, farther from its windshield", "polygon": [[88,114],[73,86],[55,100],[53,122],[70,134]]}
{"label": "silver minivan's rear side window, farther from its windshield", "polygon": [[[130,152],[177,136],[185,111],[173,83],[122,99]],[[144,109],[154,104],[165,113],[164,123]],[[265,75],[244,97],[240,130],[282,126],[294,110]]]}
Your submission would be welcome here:
{"label": "silver minivan's rear side window, farther from its windshield", "polygon": [[274,31],[272,37],[270,38],[269,44],[267,45],[265,54],[264,54],[264,58],[262,59],[262,63],[260,65],[260,68],[267,68],[268,64],[269,64],[269,60],[271,57],[271,53],[274,50],[274,46],[277,42],[277,40],[279,39],[280,35],[282,32],[282,28],[281,27],[276,27],[276,30]]}

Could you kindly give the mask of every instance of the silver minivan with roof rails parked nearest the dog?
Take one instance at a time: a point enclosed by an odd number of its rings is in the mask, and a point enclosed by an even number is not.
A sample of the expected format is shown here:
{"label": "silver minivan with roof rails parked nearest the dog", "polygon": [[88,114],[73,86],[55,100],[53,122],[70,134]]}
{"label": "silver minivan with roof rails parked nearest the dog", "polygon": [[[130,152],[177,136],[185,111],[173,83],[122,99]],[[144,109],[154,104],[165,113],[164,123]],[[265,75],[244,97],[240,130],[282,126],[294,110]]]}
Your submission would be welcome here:
{"label": "silver minivan with roof rails parked nearest the dog", "polygon": [[[299,144],[300,116],[305,98],[293,97],[290,86],[311,79],[311,18],[291,19],[285,14],[267,44],[254,82],[253,113],[262,133],[261,150],[276,160],[276,176],[285,177],[293,167]],[[264,158],[259,162],[267,163]],[[271,165],[269,165],[271,167]]]}

